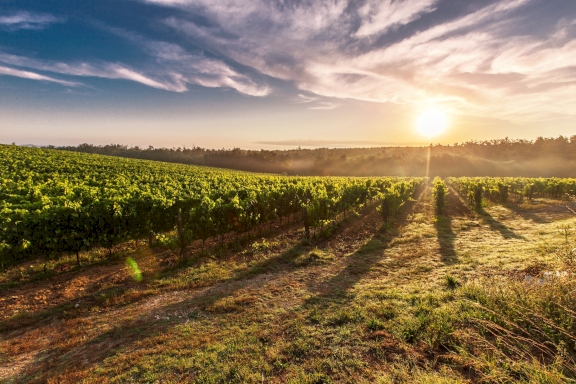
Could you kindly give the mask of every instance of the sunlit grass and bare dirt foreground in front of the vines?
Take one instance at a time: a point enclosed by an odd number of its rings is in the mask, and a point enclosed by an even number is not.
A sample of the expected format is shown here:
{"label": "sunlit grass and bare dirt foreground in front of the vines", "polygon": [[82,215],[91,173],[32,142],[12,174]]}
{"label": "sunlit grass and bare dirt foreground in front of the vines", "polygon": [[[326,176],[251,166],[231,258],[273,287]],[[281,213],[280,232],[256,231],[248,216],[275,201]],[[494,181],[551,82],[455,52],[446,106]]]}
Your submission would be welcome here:
{"label": "sunlit grass and bare dirt foreground in front of the vines", "polygon": [[389,227],[368,207],[310,241],[285,224],[184,261],[131,242],[19,265],[0,275],[0,381],[567,382],[567,204],[476,212],[451,191],[437,217],[426,189]]}

